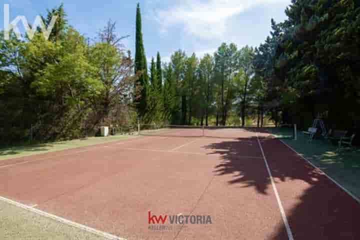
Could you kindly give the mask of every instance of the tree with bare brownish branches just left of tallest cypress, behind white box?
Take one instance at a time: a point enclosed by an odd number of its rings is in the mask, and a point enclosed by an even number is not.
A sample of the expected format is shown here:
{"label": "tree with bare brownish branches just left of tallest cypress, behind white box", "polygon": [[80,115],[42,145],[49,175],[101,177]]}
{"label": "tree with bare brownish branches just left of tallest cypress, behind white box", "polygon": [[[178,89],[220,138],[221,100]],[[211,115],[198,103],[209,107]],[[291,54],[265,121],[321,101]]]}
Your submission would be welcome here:
{"label": "tree with bare brownish branches just left of tallest cypress, behind white box", "polygon": [[133,62],[130,53],[119,47],[121,37],[115,33],[115,25],[109,21],[98,35],[100,42],[90,48],[89,59],[95,67],[95,76],[102,83],[99,94],[91,98],[96,117],[93,124],[102,121],[111,125],[116,105],[130,98],[136,75],[132,75]]}

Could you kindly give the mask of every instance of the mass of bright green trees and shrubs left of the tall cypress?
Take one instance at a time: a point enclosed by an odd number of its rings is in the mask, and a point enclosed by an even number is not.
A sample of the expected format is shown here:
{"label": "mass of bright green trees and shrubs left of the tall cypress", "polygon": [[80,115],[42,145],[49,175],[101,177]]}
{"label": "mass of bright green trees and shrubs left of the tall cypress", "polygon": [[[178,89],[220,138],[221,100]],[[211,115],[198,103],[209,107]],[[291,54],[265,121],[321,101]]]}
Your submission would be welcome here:
{"label": "mass of bright green trees and shrubs left of the tall cypress", "polygon": [[[63,6],[48,40],[0,35],[1,141],[66,139],[93,134],[100,123],[117,124],[130,106],[136,75],[108,22],[93,44],[67,25]],[[121,113],[122,116],[119,116]]]}

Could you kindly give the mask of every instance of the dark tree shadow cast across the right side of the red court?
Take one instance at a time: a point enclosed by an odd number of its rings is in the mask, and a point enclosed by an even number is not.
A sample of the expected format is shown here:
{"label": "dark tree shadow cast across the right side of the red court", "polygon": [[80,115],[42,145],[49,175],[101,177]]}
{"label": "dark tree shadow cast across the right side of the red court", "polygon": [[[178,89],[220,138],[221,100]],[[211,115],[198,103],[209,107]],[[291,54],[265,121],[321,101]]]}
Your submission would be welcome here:
{"label": "dark tree shadow cast across the right side of the red court", "polygon": [[[259,132],[259,139],[294,239],[360,239],[360,204],[266,131]],[[260,150],[253,135],[206,148],[212,149],[210,154],[221,155],[214,172],[232,176],[228,184],[241,183],[259,194],[273,194],[267,171],[266,177],[260,176],[264,171],[259,169],[266,168],[264,160],[238,157],[254,153],[255,146]],[[276,236],[271,239],[280,239],[286,229],[281,224],[274,231]]]}

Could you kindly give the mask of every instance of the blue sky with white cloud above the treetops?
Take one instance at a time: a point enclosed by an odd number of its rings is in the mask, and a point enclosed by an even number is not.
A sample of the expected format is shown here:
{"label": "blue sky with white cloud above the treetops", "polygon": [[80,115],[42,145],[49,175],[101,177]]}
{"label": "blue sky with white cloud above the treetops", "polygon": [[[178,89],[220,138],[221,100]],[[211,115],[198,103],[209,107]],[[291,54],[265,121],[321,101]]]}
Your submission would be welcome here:
{"label": "blue sky with white cloud above the treetops", "polygon": [[[111,18],[119,35],[134,54],[135,9],[133,0],[0,0],[0,29],[3,4],[10,5],[10,21],[17,15],[32,23],[46,8],[64,3],[69,23],[88,37]],[[285,19],[290,0],[139,0],[147,58],[159,51],[164,60],[181,48],[188,55],[212,53],[222,42],[257,46],[270,31],[271,17]],[[20,26],[20,23],[19,23]]]}

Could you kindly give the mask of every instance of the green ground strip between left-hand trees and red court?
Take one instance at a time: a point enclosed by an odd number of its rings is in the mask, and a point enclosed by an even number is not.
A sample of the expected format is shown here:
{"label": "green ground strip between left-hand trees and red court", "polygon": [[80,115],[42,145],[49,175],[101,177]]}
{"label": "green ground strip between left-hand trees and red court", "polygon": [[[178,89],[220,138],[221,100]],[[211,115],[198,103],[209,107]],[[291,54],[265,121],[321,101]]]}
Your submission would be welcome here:
{"label": "green ground strip between left-hand trees and red court", "polygon": [[95,145],[111,141],[124,140],[128,139],[129,137],[131,136],[116,135],[108,137],[88,137],[87,139],[76,139],[69,141],[56,141],[37,144],[22,144],[11,147],[3,147],[0,148],[0,160],[46,152],[60,151],[64,149]]}

